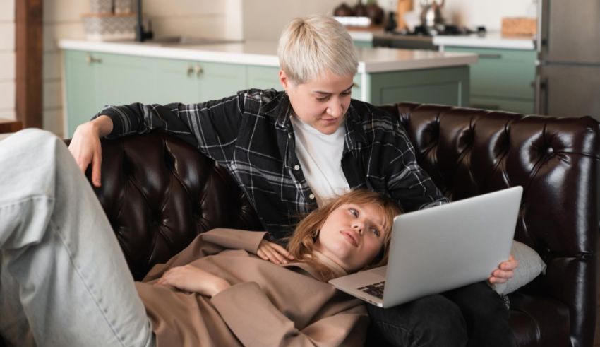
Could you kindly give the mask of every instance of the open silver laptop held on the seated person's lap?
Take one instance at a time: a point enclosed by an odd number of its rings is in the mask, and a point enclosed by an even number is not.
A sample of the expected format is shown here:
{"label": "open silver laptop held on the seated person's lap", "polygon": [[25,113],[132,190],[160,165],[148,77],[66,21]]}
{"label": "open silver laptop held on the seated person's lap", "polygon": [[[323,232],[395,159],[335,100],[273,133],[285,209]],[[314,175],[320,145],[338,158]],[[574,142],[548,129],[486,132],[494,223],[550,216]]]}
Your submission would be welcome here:
{"label": "open silver laptop held on the seated person's lap", "polygon": [[329,283],[390,307],[483,281],[508,260],[522,192],[512,187],[397,216],[388,266]]}

